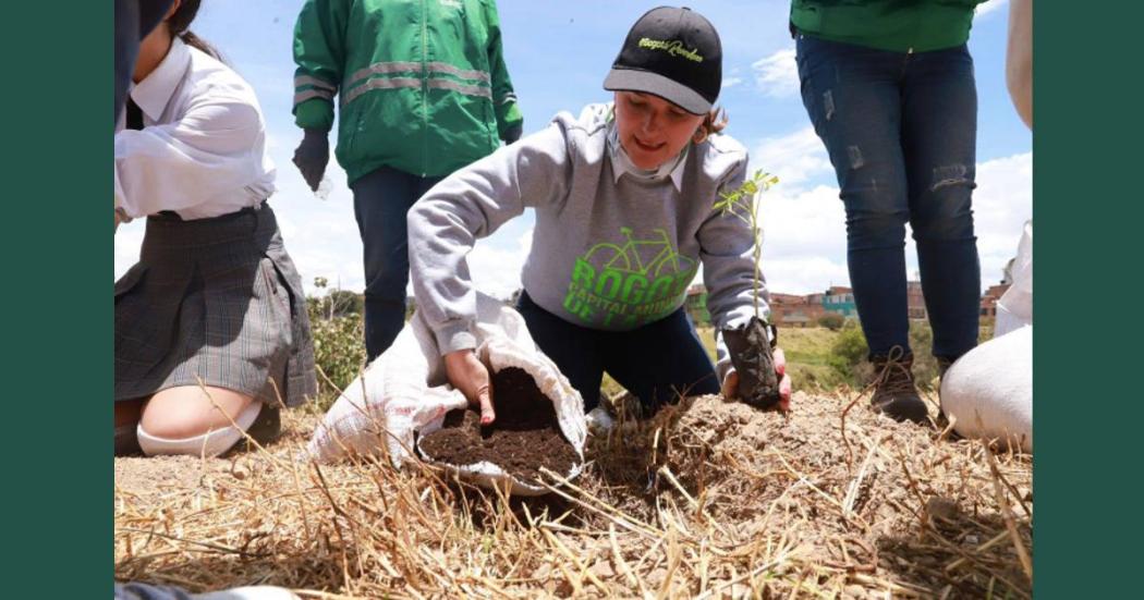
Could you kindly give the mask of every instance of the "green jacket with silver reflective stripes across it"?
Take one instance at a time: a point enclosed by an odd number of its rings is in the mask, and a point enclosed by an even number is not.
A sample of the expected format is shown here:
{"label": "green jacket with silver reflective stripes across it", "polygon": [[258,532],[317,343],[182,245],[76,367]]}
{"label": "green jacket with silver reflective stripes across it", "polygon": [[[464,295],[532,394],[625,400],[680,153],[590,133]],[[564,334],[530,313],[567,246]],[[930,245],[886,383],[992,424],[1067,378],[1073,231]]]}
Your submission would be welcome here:
{"label": "green jacket with silver reflective stripes across it", "polygon": [[524,118],[495,0],[307,0],[294,27],[294,121],[328,131],[350,183],[382,166],[447,175]]}

